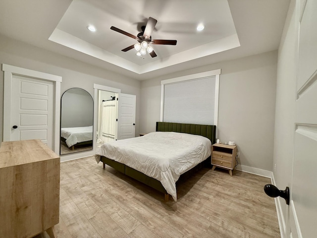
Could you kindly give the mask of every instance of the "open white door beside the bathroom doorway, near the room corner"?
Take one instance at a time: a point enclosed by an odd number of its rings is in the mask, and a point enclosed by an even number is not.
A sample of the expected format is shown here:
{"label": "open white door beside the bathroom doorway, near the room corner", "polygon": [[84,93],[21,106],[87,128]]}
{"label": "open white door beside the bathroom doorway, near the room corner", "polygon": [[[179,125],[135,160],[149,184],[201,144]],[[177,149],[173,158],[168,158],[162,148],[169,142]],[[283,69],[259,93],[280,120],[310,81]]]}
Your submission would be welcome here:
{"label": "open white door beside the bathroom doorway, near the room corner", "polygon": [[135,137],[136,95],[119,93],[117,139]]}

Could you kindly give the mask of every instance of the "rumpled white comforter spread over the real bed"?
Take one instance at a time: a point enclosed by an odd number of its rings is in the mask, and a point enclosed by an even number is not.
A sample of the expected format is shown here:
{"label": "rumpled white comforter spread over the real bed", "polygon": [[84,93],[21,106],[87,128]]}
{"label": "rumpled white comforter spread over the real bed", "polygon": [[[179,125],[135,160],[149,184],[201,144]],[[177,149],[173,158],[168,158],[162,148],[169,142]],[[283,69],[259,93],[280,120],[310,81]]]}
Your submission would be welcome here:
{"label": "rumpled white comforter spread over the real bed", "polygon": [[176,181],[211,155],[211,141],[200,135],[151,132],[107,142],[96,152],[98,163],[101,155],[158,179],[176,201]]}

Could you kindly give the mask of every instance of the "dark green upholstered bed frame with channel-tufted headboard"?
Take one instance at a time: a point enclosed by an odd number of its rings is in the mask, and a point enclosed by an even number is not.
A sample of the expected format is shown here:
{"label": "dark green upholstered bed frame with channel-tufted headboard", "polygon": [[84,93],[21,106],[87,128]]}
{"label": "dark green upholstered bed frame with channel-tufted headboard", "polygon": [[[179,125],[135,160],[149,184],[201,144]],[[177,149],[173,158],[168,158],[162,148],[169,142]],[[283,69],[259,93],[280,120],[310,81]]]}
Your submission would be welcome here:
{"label": "dark green upholstered bed frame with channel-tufted headboard", "polygon": [[[194,135],[202,135],[207,137],[211,140],[211,144],[215,143],[215,135],[216,135],[216,126],[215,125],[199,125],[199,124],[185,124],[185,123],[173,123],[173,122],[157,122],[156,131],[173,131],[173,132],[181,132],[187,134],[194,134]],[[118,170],[119,172],[136,179],[140,182],[143,182],[150,187],[159,190],[165,194],[165,201],[168,201],[168,194],[161,184],[161,182],[157,179],[153,179],[135,169],[130,168],[122,163],[116,162],[114,160],[110,160],[104,156],[101,156],[101,161],[103,162],[104,169],[106,164],[111,166],[112,168]],[[197,168],[201,168],[206,164],[211,164],[210,157],[203,161],[201,164],[197,165],[192,170],[186,172],[185,174],[188,175],[192,171],[197,170]],[[181,175],[181,177],[185,176],[185,174]]]}

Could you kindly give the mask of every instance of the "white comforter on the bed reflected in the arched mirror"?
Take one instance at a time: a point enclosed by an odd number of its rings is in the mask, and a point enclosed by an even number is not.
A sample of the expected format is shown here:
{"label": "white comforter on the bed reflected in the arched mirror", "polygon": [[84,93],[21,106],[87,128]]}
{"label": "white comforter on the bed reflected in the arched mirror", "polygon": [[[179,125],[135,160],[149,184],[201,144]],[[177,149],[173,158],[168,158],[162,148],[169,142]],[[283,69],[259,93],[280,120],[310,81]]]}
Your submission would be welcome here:
{"label": "white comforter on the bed reflected in the arched mirror", "polygon": [[66,139],[66,144],[71,147],[79,142],[93,139],[93,126],[61,128],[61,137]]}

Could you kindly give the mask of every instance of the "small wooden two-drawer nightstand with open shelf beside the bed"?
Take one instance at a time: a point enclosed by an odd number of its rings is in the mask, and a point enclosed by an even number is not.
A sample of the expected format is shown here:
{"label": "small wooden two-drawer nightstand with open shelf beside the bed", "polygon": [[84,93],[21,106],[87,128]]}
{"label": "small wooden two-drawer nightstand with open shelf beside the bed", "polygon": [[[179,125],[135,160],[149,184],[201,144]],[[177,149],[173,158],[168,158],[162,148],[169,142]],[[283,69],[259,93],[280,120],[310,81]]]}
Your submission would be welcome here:
{"label": "small wooden two-drawer nightstand with open shelf beside the bed", "polygon": [[211,164],[212,170],[216,167],[229,170],[232,176],[232,170],[236,166],[237,146],[225,144],[211,145]]}

